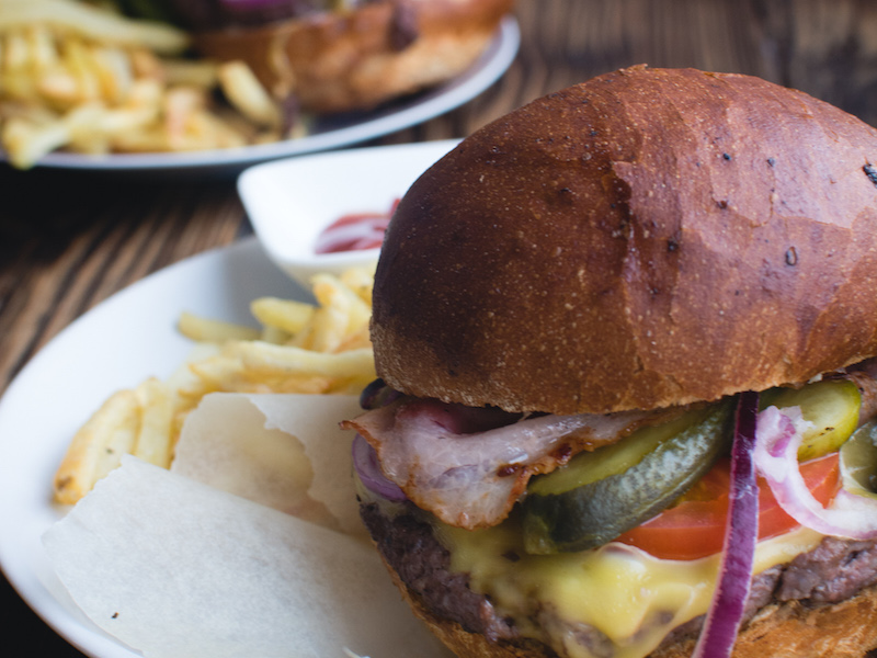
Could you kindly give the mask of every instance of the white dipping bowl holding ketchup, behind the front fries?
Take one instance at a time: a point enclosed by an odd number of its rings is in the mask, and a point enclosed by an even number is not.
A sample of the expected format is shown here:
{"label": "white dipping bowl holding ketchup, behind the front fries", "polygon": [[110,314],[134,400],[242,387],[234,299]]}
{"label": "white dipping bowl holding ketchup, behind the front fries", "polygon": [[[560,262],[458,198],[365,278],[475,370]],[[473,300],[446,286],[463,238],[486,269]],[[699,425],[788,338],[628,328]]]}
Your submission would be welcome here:
{"label": "white dipping bowl holding ketchup, behind the front fries", "polygon": [[389,212],[411,183],[456,139],[379,146],[258,164],[238,193],[267,257],[310,290],[314,274],[340,274],[377,262],[379,249],[317,253],[322,230],[350,214]]}

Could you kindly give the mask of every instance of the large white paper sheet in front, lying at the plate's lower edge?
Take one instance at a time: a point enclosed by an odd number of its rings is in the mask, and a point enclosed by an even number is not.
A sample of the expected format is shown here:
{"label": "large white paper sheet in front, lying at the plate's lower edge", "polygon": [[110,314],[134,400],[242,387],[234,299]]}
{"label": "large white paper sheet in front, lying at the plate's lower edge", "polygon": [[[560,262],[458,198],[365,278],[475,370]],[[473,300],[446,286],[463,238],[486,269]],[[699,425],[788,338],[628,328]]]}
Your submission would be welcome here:
{"label": "large white paper sheet in front, lying at the plate's lower edge", "polygon": [[148,658],[447,656],[363,542],[127,457],[44,544]]}

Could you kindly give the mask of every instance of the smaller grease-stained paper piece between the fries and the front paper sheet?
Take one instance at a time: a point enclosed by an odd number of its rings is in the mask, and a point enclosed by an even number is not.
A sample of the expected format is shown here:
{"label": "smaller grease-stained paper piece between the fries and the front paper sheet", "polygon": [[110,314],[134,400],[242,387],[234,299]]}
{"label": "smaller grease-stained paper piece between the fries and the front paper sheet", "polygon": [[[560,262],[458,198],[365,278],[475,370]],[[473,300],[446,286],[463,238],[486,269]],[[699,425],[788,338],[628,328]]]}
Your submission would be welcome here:
{"label": "smaller grease-stained paper piece between the fries and the front paper sheet", "polygon": [[361,412],[357,396],[210,394],[186,419],[171,470],[364,535],[352,484],[354,434],[338,427]]}

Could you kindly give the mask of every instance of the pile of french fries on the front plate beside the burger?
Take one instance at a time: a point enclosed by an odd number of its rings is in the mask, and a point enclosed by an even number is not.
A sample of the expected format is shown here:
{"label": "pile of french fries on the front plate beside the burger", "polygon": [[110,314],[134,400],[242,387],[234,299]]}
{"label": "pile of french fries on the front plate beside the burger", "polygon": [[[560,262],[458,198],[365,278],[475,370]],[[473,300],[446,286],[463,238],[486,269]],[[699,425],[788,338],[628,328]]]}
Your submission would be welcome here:
{"label": "pile of french fries on the front plate beside the burger", "polygon": [[198,342],[193,358],[167,381],[116,392],[93,413],[55,474],[55,500],[77,502],[124,454],[168,468],[186,415],[209,393],[358,394],[376,376],[373,279],[365,269],[318,274],[316,305],[255,299],[260,328],[182,314],[179,330]]}

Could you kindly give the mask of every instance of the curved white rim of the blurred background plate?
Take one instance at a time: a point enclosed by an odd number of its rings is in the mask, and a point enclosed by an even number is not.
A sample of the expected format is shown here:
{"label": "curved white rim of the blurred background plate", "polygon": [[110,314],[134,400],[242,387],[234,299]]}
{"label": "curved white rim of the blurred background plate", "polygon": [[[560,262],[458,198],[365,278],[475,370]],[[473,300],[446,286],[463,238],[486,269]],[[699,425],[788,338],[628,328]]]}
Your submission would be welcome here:
{"label": "curved white rim of the blurred background plate", "polygon": [[521,34],[517,21],[506,16],[481,58],[463,76],[411,100],[390,104],[376,112],[324,120],[318,132],[300,139],[243,148],[181,154],[124,154],[83,156],[53,152],[39,160],[42,167],[104,171],[192,170],[197,173],[239,170],[243,167],[351,146],[417,125],[471,100],[505,72],[517,54]]}

